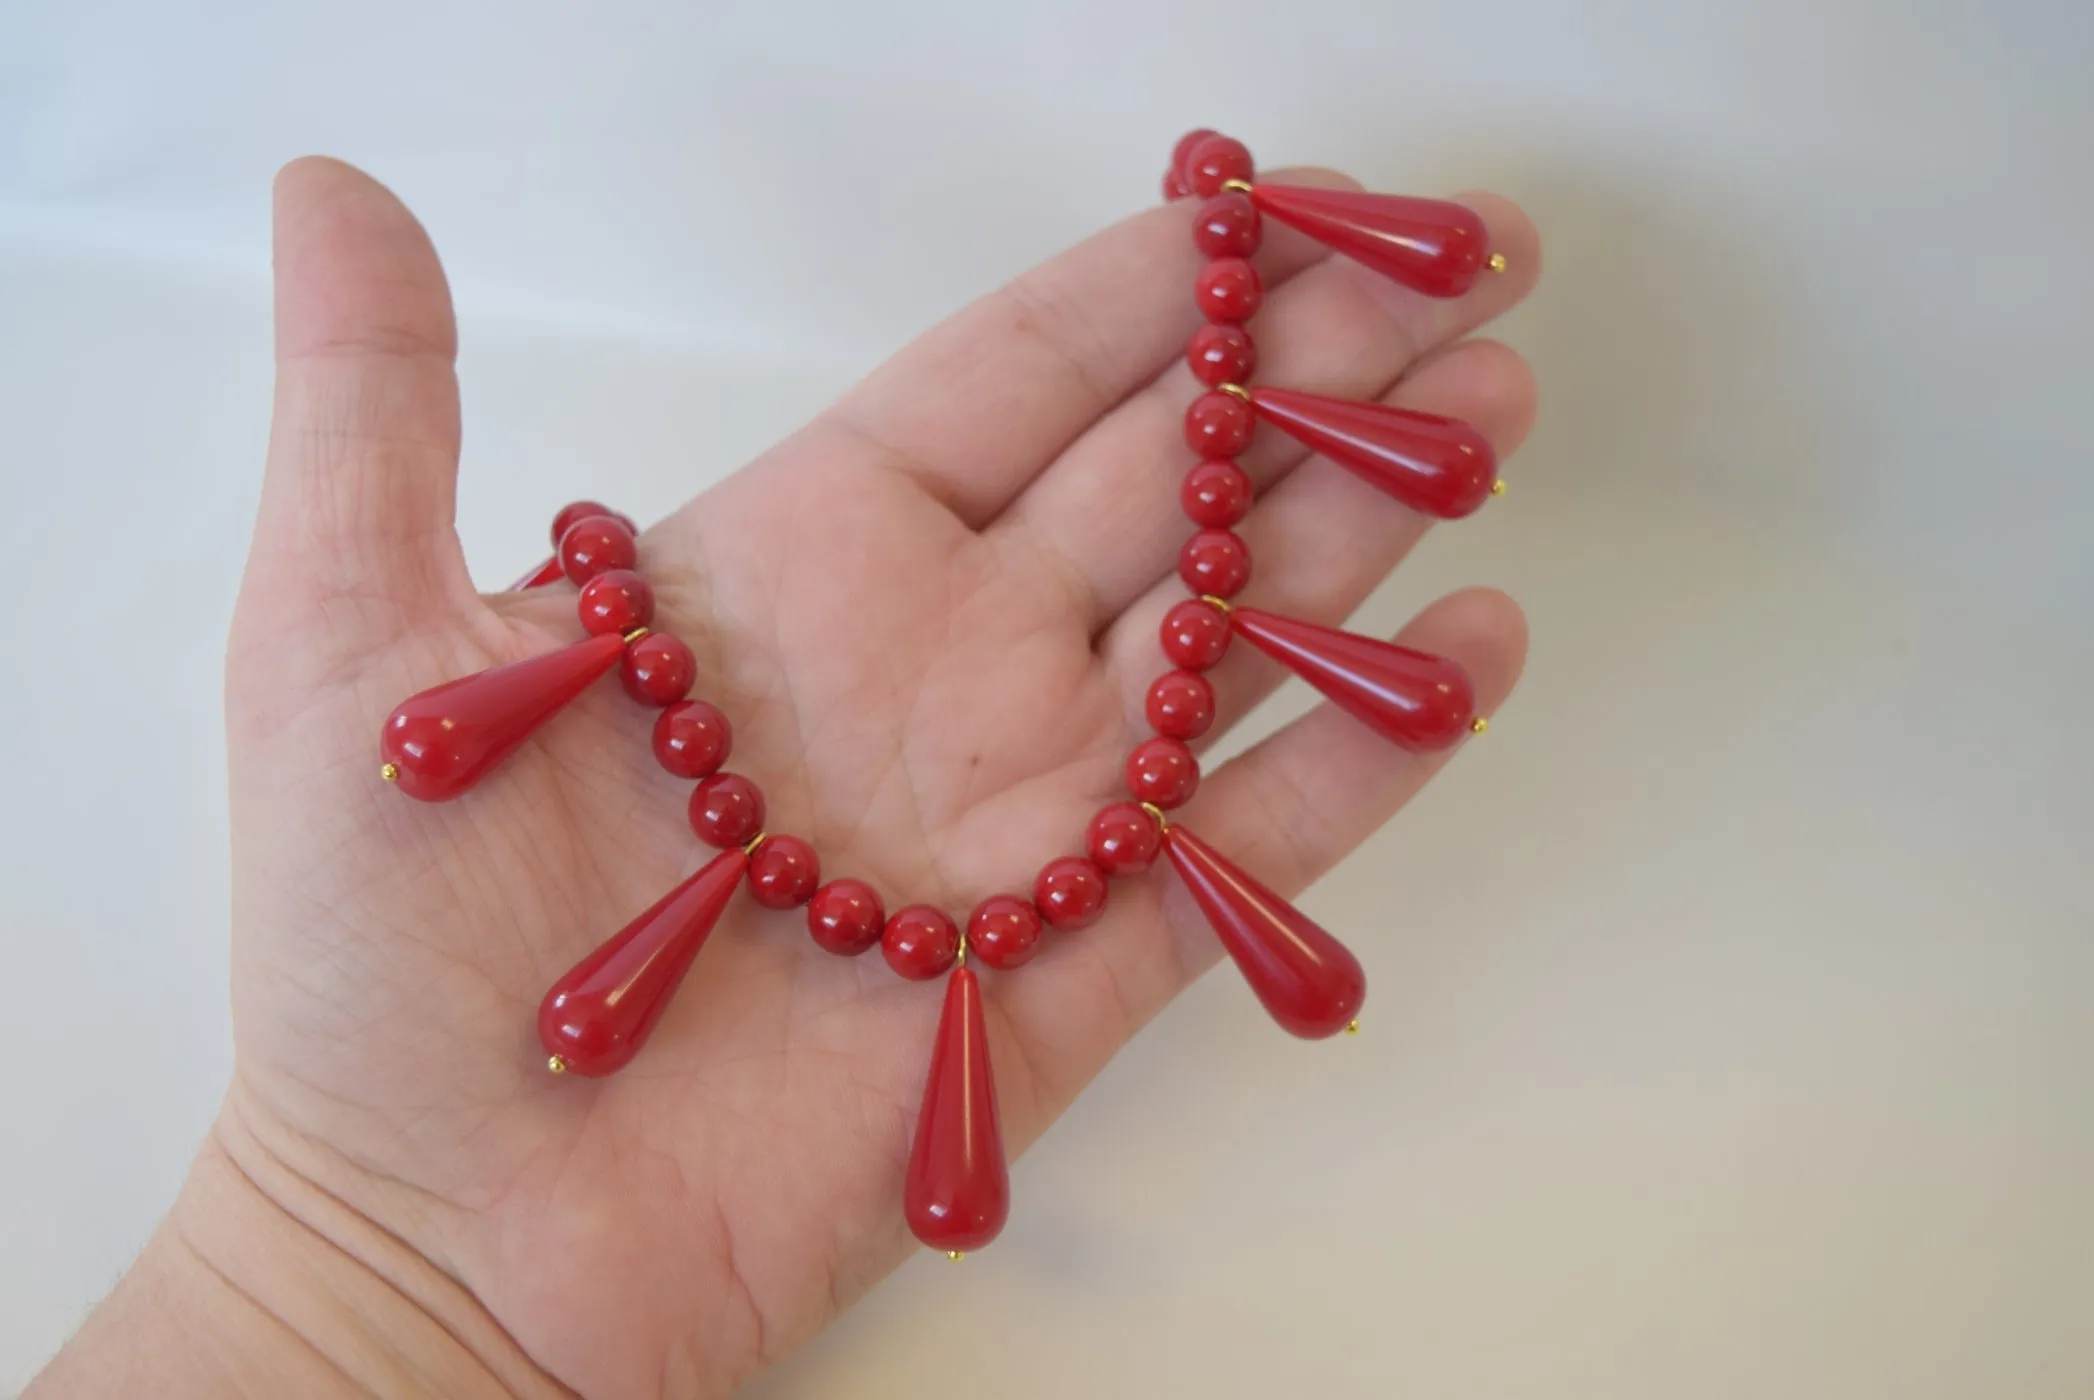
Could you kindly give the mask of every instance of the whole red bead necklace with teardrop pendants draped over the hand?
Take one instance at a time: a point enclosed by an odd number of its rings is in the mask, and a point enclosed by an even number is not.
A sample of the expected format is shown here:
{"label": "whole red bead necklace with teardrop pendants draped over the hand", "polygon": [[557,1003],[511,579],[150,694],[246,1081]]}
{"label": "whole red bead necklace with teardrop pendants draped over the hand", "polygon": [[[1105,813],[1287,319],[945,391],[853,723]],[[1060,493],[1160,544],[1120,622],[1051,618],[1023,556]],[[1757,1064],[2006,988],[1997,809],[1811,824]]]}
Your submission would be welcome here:
{"label": "whole red bead necklace with teardrop pendants draped over the hand", "polygon": [[1248,259],[1265,218],[1434,297],[1457,297],[1480,274],[1501,272],[1503,255],[1489,253],[1483,220],[1462,205],[1258,184],[1250,151],[1206,130],[1189,132],[1171,153],[1164,199],[1185,197],[1202,199],[1191,236],[1208,257],[1194,283],[1206,324],[1185,349],[1194,377],[1206,385],[1185,410],[1185,446],[1198,458],[1179,492],[1196,527],[1179,555],[1187,599],[1164,615],[1160,645],[1171,670],[1148,691],[1154,737],[1127,755],[1129,799],[1099,808],[1081,835],[1085,854],[1047,860],[1028,896],[990,896],[961,927],[934,904],[907,904],[890,914],[863,879],[823,883],[815,848],[766,831],[762,789],[725,770],[733,726],[718,707],[689,697],[697,678],[691,649],[649,626],[655,603],[634,571],[637,527],[593,500],[553,517],[553,557],[515,584],[576,584],[584,638],[413,695],[379,737],[379,772],[387,783],[421,801],[446,801],[488,776],[616,668],[634,701],[660,709],[651,735],[655,762],[695,781],[691,829],[720,854],[553,984],[538,1009],[547,1067],[595,1078],[632,1061],[743,883],[764,908],[804,906],[808,933],[821,948],[856,956],[877,944],[903,977],[946,977],[903,1210],[917,1239],[955,1260],[993,1241],[1009,1216],[982,986],[970,961],[999,973],[1024,967],[1045,929],[1074,931],[1097,921],[1110,879],[1135,879],[1158,858],[1168,860],[1284,1030],[1305,1038],[1359,1030],[1367,994],[1359,961],[1168,816],[1200,785],[1189,743],[1215,722],[1215,691],[1204,672],[1223,661],[1231,640],[1277,659],[1405,749],[1445,749],[1489,728],[1453,661],[1233,601],[1250,584],[1250,550],[1233,525],[1252,506],[1252,483],[1235,456],[1263,421],[1426,515],[1457,519],[1503,494],[1491,444],[1466,423],[1248,387],[1256,345],[1244,329],[1263,299]]}

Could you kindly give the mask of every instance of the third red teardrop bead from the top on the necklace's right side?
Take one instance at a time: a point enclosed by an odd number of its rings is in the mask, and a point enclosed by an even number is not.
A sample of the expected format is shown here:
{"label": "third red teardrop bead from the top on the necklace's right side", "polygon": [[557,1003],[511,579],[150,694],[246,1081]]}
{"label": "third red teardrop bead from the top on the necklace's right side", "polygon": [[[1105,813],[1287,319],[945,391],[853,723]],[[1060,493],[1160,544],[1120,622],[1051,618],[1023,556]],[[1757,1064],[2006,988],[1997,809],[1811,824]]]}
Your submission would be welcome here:
{"label": "third red teardrop bead from the top on the necklace's right side", "polygon": [[1229,624],[1399,747],[1445,749],[1476,720],[1476,688],[1447,657],[1254,607],[1235,609]]}

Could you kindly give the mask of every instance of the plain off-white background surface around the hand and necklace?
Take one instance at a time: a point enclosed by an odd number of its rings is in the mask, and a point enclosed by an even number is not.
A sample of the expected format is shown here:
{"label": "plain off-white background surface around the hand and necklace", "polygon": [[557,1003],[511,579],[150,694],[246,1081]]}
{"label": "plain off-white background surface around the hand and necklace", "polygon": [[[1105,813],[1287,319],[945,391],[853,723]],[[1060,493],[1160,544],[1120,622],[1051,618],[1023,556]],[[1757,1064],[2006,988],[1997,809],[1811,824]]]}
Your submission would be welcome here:
{"label": "plain off-white background surface around the hand and necklace", "polygon": [[[764,1396],[2094,1392],[2094,25],[2077,0],[0,4],[0,1387],[228,1069],[220,649],[266,195],[423,216],[492,582],[1154,197],[1173,138],[1547,239],[1491,739]],[[1298,705],[1290,695],[1282,707]]]}

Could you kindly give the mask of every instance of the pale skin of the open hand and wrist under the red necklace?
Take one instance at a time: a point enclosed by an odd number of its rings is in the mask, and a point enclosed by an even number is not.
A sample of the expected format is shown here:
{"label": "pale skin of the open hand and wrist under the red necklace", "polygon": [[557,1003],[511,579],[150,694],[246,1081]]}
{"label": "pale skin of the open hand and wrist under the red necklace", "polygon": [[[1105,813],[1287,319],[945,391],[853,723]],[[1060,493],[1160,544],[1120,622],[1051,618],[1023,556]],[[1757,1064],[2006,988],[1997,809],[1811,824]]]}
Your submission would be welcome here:
{"label": "pale skin of the open hand and wrist under the red necklace", "polygon": [[[1462,416],[1510,454],[1533,381],[1470,337],[1529,293],[1539,245],[1503,199],[1464,199],[1508,268],[1455,301],[1269,224],[1258,377]],[[1191,207],[976,301],[645,529],[658,628],[691,642],[731,768],[825,877],[963,917],[1028,891],[1118,795],[1183,596]],[[413,216],[348,165],[285,167],[274,431],[226,665],[235,1076],[168,1220],[38,1400],[718,1396],[915,1247],[900,1180],[942,984],[877,952],[838,958],[737,900],[628,1069],[547,1074],[544,988],[706,856],[651,712],[603,682],[459,801],[381,781],[402,697],[578,634],[570,588],[467,578],[454,345]],[[1426,529],[1271,429],[1244,465],[1261,607],[1342,622]],[[574,494],[605,492],[584,469]],[[1527,649],[1489,590],[1401,640],[1466,665],[1485,714]],[[1238,647],[1212,678],[1210,739],[1284,674]],[[1294,894],[1451,758],[1323,705],[1208,772],[1181,818]],[[1009,1153],[1219,956],[1158,868],[984,973]]]}

